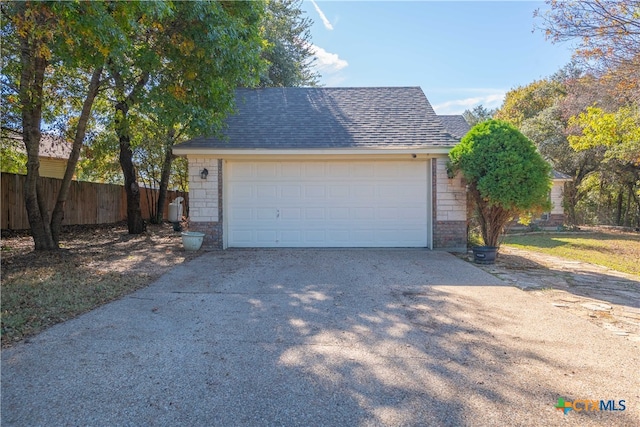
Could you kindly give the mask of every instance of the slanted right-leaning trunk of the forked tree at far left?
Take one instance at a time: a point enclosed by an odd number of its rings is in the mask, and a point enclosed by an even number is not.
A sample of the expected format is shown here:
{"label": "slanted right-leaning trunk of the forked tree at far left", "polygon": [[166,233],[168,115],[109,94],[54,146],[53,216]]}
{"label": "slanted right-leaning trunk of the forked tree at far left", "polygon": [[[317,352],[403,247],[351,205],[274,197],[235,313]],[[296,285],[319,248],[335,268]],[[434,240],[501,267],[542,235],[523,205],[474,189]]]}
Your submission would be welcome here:
{"label": "slanted right-leaning trunk of the forked tree at far left", "polygon": [[62,220],[64,219],[64,206],[67,202],[67,197],[69,196],[73,173],[76,169],[78,158],[80,157],[80,148],[82,148],[82,142],[84,141],[84,137],[87,132],[87,123],[91,116],[93,101],[98,95],[101,75],[102,66],[96,68],[91,76],[89,90],[87,91],[87,96],[82,105],[82,112],[78,119],[73,147],[71,149],[71,154],[69,155],[69,160],[67,161],[67,169],[65,170],[64,177],[62,178],[62,184],[60,185],[60,191],[58,192],[56,206],[53,209],[53,214],[51,215],[51,235],[56,245],[60,242],[60,228],[62,226]]}

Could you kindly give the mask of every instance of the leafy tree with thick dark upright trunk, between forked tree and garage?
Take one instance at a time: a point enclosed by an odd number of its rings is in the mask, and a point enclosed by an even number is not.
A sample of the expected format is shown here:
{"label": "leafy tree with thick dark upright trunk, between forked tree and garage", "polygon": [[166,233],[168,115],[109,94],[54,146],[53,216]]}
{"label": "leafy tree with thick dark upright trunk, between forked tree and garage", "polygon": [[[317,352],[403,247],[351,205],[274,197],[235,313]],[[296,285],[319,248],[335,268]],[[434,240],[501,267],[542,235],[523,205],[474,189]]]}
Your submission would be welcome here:
{"label": "leafy tree with thick dark upright trunk, between forked tree and garage", "polygon": [[257,81],[263,7],[261,2],[218,1],[137,5],[130,44],[123,55],[110,56],[107,62],[129,233],[145,228],[133,161],[132,114],[150,117],[164,129],[170,171],[170,147],[181,130],[214,132],[233,107],[236,85]]}

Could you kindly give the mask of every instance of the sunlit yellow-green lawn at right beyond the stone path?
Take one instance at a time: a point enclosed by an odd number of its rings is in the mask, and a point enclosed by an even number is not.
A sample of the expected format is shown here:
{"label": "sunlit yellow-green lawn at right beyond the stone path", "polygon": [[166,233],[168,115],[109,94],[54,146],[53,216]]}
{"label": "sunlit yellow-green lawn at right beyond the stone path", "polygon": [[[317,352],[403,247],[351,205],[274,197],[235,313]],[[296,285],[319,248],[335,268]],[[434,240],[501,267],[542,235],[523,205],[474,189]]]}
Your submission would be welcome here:
{"label": "sunlit yellow-green lawn at right beyond the stone path", "polygon": [[640,235],[637,233],[527,234],[507,236],[502,244],[640,276]]}

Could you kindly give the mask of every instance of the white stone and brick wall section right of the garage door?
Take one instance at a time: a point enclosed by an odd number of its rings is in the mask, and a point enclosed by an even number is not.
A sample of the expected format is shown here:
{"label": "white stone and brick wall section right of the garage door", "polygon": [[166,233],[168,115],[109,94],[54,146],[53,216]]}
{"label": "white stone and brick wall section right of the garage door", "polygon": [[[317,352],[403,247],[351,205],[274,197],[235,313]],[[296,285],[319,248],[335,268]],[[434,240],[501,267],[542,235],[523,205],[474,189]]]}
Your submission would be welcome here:
{"label": "white stone and brick wall section right of the garage door", "polygon": [[433,186],[433,248],[467,250],[467,192],[462,178],[447,177],[447,158],[431,163]]}

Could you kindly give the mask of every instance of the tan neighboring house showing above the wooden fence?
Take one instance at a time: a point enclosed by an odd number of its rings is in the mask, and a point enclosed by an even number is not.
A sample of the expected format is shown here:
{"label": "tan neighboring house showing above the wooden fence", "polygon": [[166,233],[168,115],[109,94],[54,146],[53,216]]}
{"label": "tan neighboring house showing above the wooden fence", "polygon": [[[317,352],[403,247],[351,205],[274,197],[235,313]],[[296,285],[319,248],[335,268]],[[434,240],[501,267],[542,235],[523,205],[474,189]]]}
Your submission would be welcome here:
{"label": "tan neighboring house showing above the wooden fence", "polygon": [[[3,134],[3,138],[18,143],[16,149],[26,156],[26,150],[22,142],[22,134],[20,132],[6,131]],[[71,155],[71,148],[72,144],[64,138],[43,133],[40,137],[39,149],[40,176],[43,178],[62,179],[67,168],[67,161]]]}

